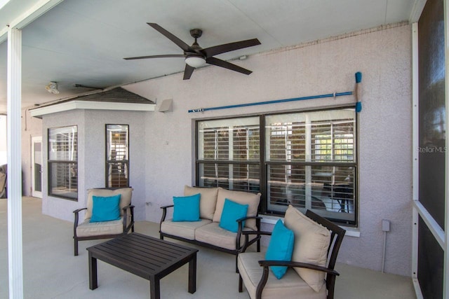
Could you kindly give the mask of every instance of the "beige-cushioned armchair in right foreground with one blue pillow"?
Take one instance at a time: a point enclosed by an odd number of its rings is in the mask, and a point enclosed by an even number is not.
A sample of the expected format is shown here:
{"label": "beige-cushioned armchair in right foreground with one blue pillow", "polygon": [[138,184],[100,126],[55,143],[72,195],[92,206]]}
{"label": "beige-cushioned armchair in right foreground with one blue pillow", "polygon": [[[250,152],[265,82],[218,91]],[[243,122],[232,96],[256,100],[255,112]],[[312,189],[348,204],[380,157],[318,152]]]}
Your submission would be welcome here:
{"label": "beige-cushioned armchair in right foreground with one blue pillow", "polygon": [[[281,230],[277,229],[278,225],[283,230],[283,236],[288,231],[290,236],[294,235],[287,238],[287,242],[293,244],[287,253],[291,258],[267,260],[266,253],[246,253],[246,248],[243,248],[238,258],[239,292],[243,291],[244,284],[251,299],[333,299],[335,278],[339,275],[334,270],[335,261],[346,231],[310,210],[304,215],[290,205],[282,225],[276,223],[273,232],[256,232],[272,235],[267,255],[272,247],[272,240],[277,243],[274,244],[278,245],[276,247],[282,243],[279,238],[274,240],[274,234],[277,237],[282,235],[279,233]],[[242,232],[246,236],[253,233]],[[283,274],[279,275],[279,270],[283,270]]]}

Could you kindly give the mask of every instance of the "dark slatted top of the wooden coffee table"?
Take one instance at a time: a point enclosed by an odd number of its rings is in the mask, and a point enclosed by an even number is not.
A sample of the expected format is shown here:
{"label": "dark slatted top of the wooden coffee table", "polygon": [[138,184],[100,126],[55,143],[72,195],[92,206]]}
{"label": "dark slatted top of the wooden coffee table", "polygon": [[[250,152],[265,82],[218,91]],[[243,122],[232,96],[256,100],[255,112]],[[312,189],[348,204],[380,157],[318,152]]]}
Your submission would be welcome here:
{"label": "dark slatted top of the wooden coffee table", "polygon": [[133,232],[88,248],[94,258],[142,278],[162,278],[184,265],[198,249]]}

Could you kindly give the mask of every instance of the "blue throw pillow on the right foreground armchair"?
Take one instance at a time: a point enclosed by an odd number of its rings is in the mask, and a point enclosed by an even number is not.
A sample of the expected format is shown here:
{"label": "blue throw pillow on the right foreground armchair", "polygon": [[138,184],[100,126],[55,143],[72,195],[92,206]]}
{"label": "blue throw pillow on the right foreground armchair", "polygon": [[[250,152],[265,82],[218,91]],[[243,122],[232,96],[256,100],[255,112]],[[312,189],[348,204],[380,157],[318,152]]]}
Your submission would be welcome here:
{"label": "blue throw pillow on the right foreground armchair", "polygon": [[[267,253],[265,253],[265,260],[292,260],[294,242],[293,231],[286,228],[279,219],[274,225],[272,238],[269,241]],[[286,274],[287,268],[287,266],[272,266],[270,270],[277,279],[281,279]]]}

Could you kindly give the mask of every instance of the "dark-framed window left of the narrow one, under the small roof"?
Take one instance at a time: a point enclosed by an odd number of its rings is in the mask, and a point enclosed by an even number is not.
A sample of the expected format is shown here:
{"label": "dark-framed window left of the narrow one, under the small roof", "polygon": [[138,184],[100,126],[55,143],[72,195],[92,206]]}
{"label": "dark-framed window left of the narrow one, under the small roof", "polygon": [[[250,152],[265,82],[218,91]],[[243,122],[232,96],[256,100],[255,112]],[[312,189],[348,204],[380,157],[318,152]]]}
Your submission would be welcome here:
{"label": "dark-framed window left of the narrow one, under the small roof", "polygon": [[78,200],[78,127],[48,129],[48,195]]}

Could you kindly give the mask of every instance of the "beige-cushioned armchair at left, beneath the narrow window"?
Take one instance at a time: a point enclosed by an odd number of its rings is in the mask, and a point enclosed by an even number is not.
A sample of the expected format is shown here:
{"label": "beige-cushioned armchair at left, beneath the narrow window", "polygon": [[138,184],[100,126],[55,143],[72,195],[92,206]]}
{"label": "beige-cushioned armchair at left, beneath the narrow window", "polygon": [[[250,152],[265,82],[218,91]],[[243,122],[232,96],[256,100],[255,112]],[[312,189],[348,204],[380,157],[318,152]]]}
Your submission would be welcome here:
{"label": "beige-cushioned armchair at left, beneath the narrow window", "polygon": [[[87,193],[87,207],[74,210],[74,256],[78,242],[89,239],[110,239],[134,232],[133,188],[94,188]],[[85,211],[79,223],[80,211]]]}

